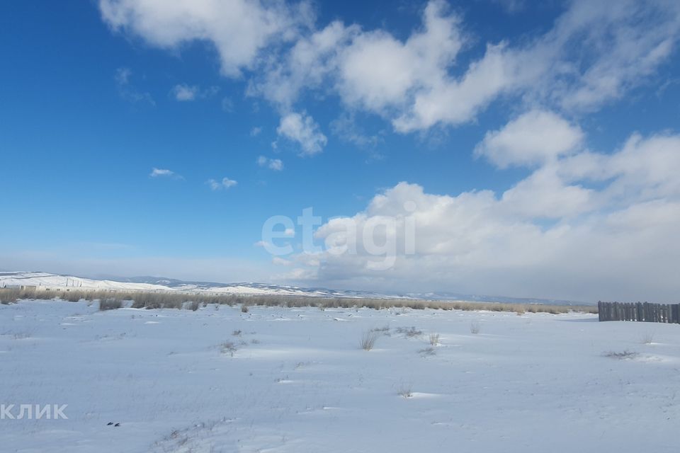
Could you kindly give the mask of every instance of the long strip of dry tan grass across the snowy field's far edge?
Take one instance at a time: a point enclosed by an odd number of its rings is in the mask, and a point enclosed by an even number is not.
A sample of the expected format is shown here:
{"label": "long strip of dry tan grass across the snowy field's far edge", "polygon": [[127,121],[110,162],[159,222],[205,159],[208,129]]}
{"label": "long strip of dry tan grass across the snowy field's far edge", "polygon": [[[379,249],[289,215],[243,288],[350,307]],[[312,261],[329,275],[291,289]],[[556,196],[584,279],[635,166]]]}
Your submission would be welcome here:
{"label": "long strip of dry tan grass across the snowy field's far edge", "polygon": [[[101,300],[115,297],[120,300],[134,301],[134,308],[146,309],[181,309],[183,304],[197,302],[201,304],[241,305],[244,313],[249,306],[288,306],[305,307],[317,306],[322,309],[436,309],[463,311],[512,311],[516,313],[550,313],[560,314],[578,311],[582,313],[597,313],[597,306],[576,305],[541,305],[541,304],[497,304],[490,302],[464,301],[423,301],[415,299],[351,299],[341,297],[291,297],[291,296],[254,296],[247,294],[193,294],[188,292],[142,292],[142,291],[86,291],[83,289],[0,289],[0,301],[4,303],[16,302],[19,299],[62,299],[62,300]],[[189,305],[191,308],[192,305]]]}

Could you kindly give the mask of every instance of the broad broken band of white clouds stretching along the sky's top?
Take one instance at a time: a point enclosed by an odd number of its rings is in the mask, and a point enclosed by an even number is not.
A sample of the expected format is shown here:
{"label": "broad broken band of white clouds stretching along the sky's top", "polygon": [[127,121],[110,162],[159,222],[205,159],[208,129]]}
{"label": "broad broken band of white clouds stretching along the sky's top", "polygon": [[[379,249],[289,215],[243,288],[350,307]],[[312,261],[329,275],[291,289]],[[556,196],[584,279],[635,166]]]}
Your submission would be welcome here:
{"label": "broad broken band of white clouds stretching along the sky's top", "polygon": [[[524,4],[498,1],[513,10]],[[245,76],[246,93],[266,98],[298,126],[309,117],[290,112],[317,91],[402,133],[473,121],[507,97],[569,113],[597,110],[644,84],[680,37],[680,4],[664,0],[570,1],[553,28],[487,42],[471,61],[461,56],[474,42],[465,17],[443,0],[429,1],[405,39],[341,21],[317,26],[304,2],[100,0],[100,10],[113,30],[157,47],[209,42],[225,76]],[[301,144],[302,154],[314,154],[325,137],[312,134]]]}

